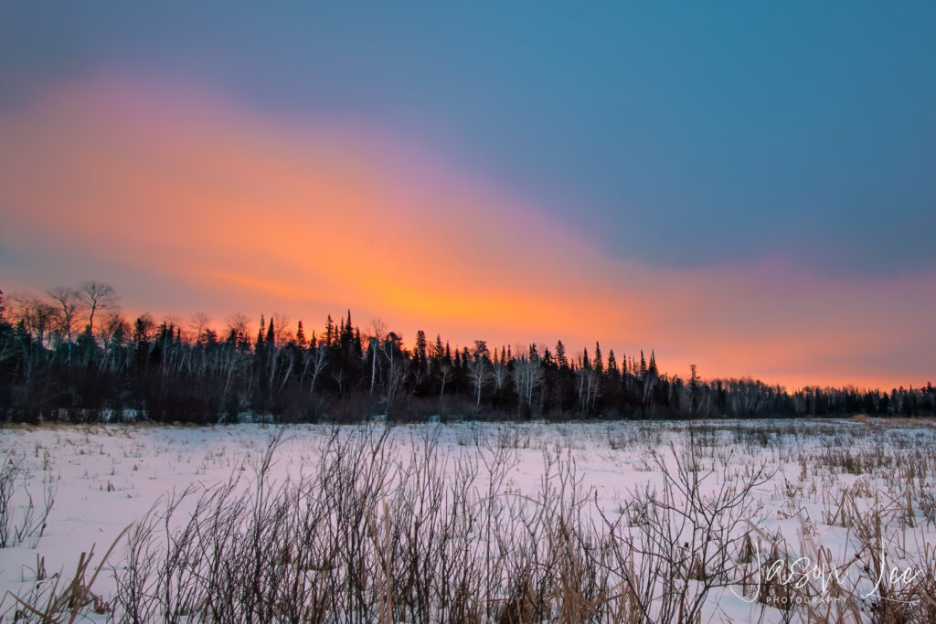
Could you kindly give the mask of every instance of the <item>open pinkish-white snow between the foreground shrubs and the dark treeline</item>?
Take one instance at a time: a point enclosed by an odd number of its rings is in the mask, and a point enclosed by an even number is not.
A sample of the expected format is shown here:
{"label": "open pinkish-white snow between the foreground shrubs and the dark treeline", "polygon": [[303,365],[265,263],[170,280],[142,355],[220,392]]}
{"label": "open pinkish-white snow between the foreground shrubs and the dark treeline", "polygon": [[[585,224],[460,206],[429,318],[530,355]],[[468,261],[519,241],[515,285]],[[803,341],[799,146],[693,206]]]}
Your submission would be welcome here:
{"label": "open pinkish-white snow between the foreground shrubs and the dark treeline", "polygon": [[[664,486],[656,457],[674,469],[690,427],[705,428],[695,434],[699,474],[710,472],[703,481],[705,492],[716,491],[731,475],[742,476],[759,462],[767,463],[772,476],[753,491],[761,511],[752,519],[760,520],[758,534],[779,535],[789,549],[803,551],[809,544],[827,548],[832,563],[854,555],[856,531],[843,518],[855,510],[843,493],[854,494],[849,500],[856,501],[858,514],[868,513],[875,505],[892,510],[883,515],[889,523],[883,532],[888,540],[907,544],[902,554],[893,552],[889,541],[885,544],[895,563],[919,565],[926,544],[936,543],[932,518],[921,498],[926,492],[932,495],[936,477],[907,468],[929,466],[934,457],[936,428],[923,421],[466,422],[395,427],[389,442],[401,460],[413,452],[427,428],[438,430],[439,443],[450,457],[508,448],[516,453],[517,463],[503,489],[518,494],[539,491],[547,457],[564,457],[574,464],[582,486],[592,489],[593,518],[600,523],[599,512],[608,517],[629,514],[628,503],[636,492]],[[235,472],[249,477],[276,430],[269,425],[0,429],[0,450],[7,454],[0,457],[20,462],[26,469],[12,499],[14,521],[25,509],[26,492],[41,506],[46,488],[54,491],[41,539],[0,549],[0,590],[5,594],[0,621],[11,620],[16,606],[7,590],[28,596],[36,586],[37,560],[44,560],[50,575],[61,571],[67,577],[80,553],[95,544],[94,567],[125,527],[171,492],[189,486],[211,487],[227,482]],[[328,426],[286,427],[284,442],[274,456],[276,478],[295,479],[308,472],[329,430]],[[907,459],[906,466],[895,463],[901,457]],[[914,464],[913,457],[924,460]],[[847,466],[855,473],[845,472]],[[248,482],[249,478],[244,480],[245,485]],[[476,486],[487,484],[481,479]],[[908,495],[912,509],[900,512]],[[124,544],[118,544],[110,563],[119,564],[123,551]],[[95,583],[95,592],[104,597],[114,588],[111,573],[102,573]],[[736,622],[760,617],[762,605],[742,596],[740,589],[713,592],[706,603],[706,617]],[[797,614],[805,617],[805,612],[797,610]],[[781,611],[767,609],[765,621],[781,619]]]}

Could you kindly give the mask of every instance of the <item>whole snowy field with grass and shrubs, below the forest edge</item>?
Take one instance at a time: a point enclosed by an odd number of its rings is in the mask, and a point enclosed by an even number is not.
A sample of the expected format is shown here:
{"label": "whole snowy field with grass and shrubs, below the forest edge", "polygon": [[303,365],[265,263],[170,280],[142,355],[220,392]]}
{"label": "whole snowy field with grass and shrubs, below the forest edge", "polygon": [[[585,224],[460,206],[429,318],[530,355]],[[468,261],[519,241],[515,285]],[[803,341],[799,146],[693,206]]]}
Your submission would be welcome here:
{"label": "whole snowy field with grass and shrubs, below the forest edge", "polygon": [[85,617],[934,613],[925,421],[49,426],[0,452],[4,621],[115,540]]}

